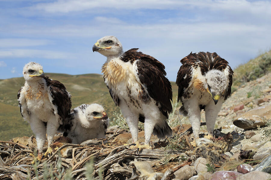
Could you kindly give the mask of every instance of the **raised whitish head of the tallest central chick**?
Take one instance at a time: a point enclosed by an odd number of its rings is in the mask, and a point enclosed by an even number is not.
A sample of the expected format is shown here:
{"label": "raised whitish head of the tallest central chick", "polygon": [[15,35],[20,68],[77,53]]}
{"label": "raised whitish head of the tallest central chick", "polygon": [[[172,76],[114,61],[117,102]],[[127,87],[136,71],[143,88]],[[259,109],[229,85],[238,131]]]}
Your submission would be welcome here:
{"label": "raised whitish head of the tallest central chick", "polygon": [[115,56],[120,55],[122,51],[122,45],[115,36],[104,36],[99,39],[92,47],[93,52],[100,52],[102,55]]}

